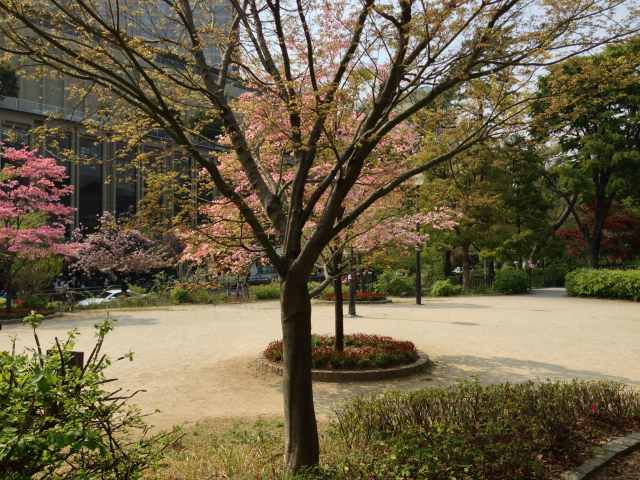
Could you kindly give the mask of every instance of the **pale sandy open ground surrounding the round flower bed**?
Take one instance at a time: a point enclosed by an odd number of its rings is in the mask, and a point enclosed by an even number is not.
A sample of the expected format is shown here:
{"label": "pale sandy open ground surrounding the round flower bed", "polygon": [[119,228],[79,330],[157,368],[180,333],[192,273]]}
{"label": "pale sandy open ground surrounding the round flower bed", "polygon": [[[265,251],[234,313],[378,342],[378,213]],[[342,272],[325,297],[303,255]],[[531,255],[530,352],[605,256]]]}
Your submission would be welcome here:
{"label": "pale sandy open ground surrounding the round flower bed", "polygon": [[[483,382],[545,378],[599,378],[640,388],[640,304],[575,299],[562,290],[531,295],[410,300],[358,306],[346,318],[347,332],[391,335],[415,342],[436,360],[428,373],[393,382],[315,385],[317,409],[329,414],[340,400],[382,389],[446,385],[477,377]],[[146,389],[138,403],[159,426],[206,417],[279,415],[279,378],[258,373],[255,358],[280,335],[277,302],[186,306],[117,311],[118,326],[108,337],[113,357],[130,350],[133,362],[116,362],[111,374],[128,389]],[[44,342],[77,328],[79,348],[88,350],[92,325],[104,312],[82,312],[49,320]],[[313,328],[330,333],[333,306],[314,305]],[[22,325],[5,326],[0,350],[9,337],[29,344]]]}

